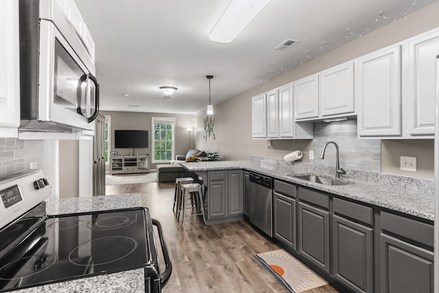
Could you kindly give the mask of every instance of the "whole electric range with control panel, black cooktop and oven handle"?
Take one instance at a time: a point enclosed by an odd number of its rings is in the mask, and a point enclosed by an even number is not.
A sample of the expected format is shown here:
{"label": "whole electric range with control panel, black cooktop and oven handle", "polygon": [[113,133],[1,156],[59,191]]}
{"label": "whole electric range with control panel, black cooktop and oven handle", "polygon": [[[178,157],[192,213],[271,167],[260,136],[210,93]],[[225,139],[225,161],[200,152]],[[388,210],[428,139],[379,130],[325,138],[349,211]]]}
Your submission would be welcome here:
{"label": "whole electric range with control panel, black cooktop and oven handle", "polygon": [[[144,269],[145,292],[169,279],[163,231],[146,208],[47,216],[51,186],[40,170],[0,181],[0,292]],[[161,273],[153,225],[165,259]]]}

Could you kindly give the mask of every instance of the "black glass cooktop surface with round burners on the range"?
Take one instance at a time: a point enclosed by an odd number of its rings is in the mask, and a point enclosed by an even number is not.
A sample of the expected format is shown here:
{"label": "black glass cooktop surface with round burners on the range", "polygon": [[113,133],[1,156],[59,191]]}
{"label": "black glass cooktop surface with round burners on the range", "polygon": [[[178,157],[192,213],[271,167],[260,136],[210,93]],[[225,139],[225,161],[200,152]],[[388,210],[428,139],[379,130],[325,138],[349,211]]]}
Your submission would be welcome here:
{"label": "black glass cooktop surface with round burners on the range", "polygon": [[148,219],[141,208],[49,217],[1,259],[0,292],[144,267]]}

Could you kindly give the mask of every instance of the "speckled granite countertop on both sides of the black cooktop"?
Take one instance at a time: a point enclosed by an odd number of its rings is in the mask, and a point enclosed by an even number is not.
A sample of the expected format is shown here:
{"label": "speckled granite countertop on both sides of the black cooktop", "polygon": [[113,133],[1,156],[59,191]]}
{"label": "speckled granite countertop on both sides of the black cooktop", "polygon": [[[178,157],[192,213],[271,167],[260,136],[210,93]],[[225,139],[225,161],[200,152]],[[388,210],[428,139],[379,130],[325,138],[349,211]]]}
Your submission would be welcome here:
{"label": "speckled granite countertop on both sides of the black cooktop", "polygon": [[[121,194],[117,196],[93,196],[91,198],[60,198],[46,200],[48,215],[63,213],[81,213],[88,211],[105,211],[141,207],[141,194]],[[102,274],[72,281],[53,283],[38,287],[14,291],[32,292],[145,292],[143,268]]]}

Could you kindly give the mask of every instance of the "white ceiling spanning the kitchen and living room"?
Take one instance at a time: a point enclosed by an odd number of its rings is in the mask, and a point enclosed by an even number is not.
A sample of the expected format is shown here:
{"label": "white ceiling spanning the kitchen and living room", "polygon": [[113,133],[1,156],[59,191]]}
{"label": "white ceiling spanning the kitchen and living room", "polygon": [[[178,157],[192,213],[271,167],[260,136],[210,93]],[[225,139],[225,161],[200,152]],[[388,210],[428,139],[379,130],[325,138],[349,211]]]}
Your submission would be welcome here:
{"label": "white ceiling spanning the kitchen and living room", "polygon": [[[95,40],[100,108],[189,114],[208,104],[206,75],[215,105],[435,1],[272,0],[232,43],[215,43],[230,0],[75,0]],[[178,90],[166,98],[160,86]]]}

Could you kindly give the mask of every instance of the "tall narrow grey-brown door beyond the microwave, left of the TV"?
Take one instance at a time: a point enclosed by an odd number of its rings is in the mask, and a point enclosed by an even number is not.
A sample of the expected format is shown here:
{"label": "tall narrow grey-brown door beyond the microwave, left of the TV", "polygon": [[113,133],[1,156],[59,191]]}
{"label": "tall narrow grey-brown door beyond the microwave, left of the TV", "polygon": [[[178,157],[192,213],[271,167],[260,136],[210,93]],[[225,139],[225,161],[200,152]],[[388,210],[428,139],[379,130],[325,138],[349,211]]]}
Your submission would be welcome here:
{"label": "tall narrow grey-brown door beyond the microwave, left of the TV", "polygon": [[105,117],[95,120],[93,137],[93,196],[105,195]]}

